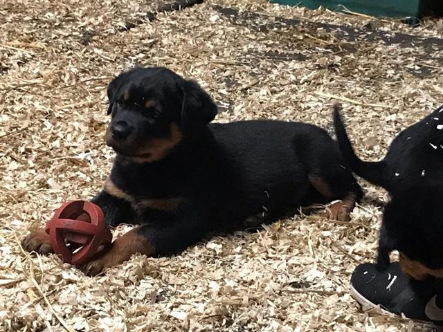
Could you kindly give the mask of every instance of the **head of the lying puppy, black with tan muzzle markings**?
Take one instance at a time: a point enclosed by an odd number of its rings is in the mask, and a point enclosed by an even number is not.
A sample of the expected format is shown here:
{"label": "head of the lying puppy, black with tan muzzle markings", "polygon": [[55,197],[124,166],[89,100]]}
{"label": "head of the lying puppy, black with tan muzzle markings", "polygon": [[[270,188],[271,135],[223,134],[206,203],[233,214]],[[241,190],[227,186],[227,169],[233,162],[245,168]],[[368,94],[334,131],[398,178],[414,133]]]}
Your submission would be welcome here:
{"label": "head of the lying puppy, black with tan muzzle markings", "polygon": [[138,163],[161,160],[182,140],[198,136],[217,114],[199,84],[167,68],[122,73],[111,81],[107,95],[107,145]]}

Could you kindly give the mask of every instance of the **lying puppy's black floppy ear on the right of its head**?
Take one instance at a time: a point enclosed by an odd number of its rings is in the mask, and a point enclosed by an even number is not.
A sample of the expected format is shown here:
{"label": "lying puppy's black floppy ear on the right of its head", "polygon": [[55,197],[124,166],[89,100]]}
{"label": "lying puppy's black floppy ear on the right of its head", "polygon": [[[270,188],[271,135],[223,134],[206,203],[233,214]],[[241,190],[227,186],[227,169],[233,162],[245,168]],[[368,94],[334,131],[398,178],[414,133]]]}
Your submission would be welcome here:
{"label": "lying puppy's black floppy ear on the right of its head", "polygon": [[182,90],[181,122],[205,125],[214,120],[218,111],[217,105],[197,82],[185,80]]}

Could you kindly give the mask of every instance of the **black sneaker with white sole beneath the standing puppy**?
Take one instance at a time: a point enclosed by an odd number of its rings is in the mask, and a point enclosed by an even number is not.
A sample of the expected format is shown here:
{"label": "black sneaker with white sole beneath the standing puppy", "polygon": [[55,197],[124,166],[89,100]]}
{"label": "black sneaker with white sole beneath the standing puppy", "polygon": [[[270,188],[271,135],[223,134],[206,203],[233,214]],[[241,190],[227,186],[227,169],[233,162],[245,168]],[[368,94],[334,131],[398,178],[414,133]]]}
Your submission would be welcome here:
{"label": "black sneaker with white sole beneath the standing puppy", "polygon": [[351,277],[351,294],[363,310],[380,306],[389,313],[443,325],[443,280],[410,279],[398,263],[391,263],[384,271],[377,271],[375,264],[357,266]]}

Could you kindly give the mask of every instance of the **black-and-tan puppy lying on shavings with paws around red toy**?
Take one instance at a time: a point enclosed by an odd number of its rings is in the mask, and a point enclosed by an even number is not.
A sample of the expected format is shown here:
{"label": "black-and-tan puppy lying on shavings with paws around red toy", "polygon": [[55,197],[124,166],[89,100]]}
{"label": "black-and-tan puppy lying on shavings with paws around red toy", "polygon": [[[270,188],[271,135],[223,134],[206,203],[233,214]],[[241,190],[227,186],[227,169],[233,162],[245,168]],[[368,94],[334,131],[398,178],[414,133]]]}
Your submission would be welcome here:
{"label": "black-and-tan puppy lying on shavings with paws around red toy", "polygon": [[[140,225],[86,264],[88,275],[136,252],[178,252],[209,232],[242,228],[250,216],[273,221],[289,208],[341,200],[330,208],[332,217],[347,220],[361,198],[336,142],[314,125],[209,124],[217,106],[208,93],[167,68],[121,73],[107,95],[106,141],[116,158],[92,201],[108,225]],[[28,234],[23,246],[51,252],[42,230]]]}

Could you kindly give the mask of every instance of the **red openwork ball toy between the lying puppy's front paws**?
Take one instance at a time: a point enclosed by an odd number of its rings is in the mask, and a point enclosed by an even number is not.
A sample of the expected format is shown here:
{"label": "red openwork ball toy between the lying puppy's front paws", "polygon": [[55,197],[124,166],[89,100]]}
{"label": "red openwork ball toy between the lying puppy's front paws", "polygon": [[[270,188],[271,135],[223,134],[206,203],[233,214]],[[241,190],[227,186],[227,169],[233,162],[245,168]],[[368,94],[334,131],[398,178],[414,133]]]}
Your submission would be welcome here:
{"label": "red openwork ball toy between the lying puppy's front paws", "polygon": [[[84,217],[85,214],[89,218]],[[80,216],[82,220],[79,220]],[[74,265],[86,263],[97,252],[109,247],[112,241],[102,210],[87,201],[64,203],[46,223],[45,230],[55,253]]]}

